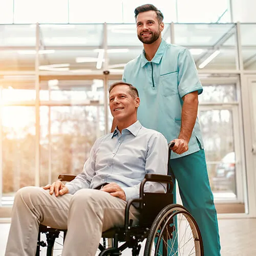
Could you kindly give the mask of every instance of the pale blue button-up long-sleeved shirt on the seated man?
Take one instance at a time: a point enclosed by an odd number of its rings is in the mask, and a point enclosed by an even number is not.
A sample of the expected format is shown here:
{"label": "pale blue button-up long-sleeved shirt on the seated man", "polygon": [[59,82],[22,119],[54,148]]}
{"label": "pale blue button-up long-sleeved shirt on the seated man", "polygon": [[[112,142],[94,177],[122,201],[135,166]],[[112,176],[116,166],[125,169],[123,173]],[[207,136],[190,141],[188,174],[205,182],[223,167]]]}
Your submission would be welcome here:
{"label": "pale blue button-up long-sleeved shirt on the seated man", "polygon": [[[129,199],[139,198],[145,174],[167,174],[168,145],[164,136],[146,129],[139,121],[122,130],[115,129],[97,139],[81,174],[67,184],[70,194],[81,188],[96,188],[103,183],[117,183]],[[165,186],[147,182],[145,191],[163,192]]]}

